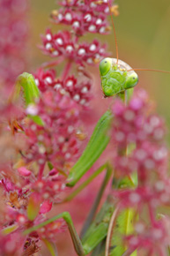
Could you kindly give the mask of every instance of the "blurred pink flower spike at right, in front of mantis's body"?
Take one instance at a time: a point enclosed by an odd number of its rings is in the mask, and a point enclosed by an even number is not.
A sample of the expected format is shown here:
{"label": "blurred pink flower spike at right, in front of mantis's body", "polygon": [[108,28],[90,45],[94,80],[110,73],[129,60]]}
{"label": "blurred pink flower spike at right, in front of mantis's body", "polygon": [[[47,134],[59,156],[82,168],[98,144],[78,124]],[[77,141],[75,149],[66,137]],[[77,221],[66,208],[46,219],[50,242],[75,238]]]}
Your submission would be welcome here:
{"label": "blurred pink flower spike at right, in front of mantis's body", "polygon": [[[168,245],[170,233],[166,229],[166,222],[157,220],[156,213],[159,207],[170,206],[168,150],[163,140],[165,124],[159,116],[151,113],[150,107],[143,90],[138,90],[127,106],[120,100],[115,101],[113,139],[118,145],[115,173],[117,177],[128,176],[133,183],[132,175],[137,172],[138,184],[133,188],[120,188],[113,193],[122,209],[135,207],[139,215],[136,234],[126,237],[130,252],[144,248],[147,255],[159,252],[163,256],[166,255],[163,248]],[[126,147],[131,147],[127,155],[123,153]],[[147,221],[141,223],[144,207],[149,211],[150,227]]]}

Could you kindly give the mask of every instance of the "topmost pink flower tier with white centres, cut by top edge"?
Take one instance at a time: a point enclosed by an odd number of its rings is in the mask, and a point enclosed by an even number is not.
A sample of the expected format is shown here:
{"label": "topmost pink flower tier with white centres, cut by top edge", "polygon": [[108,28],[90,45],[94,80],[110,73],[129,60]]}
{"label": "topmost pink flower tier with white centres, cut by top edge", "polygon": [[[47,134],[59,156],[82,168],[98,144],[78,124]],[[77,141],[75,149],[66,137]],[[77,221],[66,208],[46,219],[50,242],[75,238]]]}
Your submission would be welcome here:
{"label": "topmost pink flower tier with white centres, cut by top edge", "polygon": [[[112,3],[113,1],[110,1],[110,4]],[[78,36],[85,32],[107,34],[109,30],[107,1],[65,0],[61,5],[63,8],[53,11],[51,15],[56,24],[70,25]]]}

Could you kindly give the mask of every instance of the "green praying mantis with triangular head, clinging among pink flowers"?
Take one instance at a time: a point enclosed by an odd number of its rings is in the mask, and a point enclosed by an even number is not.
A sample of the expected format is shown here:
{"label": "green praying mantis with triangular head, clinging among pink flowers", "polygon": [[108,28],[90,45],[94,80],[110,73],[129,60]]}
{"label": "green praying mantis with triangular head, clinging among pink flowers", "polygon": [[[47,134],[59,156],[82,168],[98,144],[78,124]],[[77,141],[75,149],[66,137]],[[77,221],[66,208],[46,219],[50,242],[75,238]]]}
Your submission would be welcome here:
{"label": "green praying mantis with triangular head, clinging among pink flowers", "polygon": [[[115,30],[115,26],[114,26]],[[137,85],[138,76],[137,73],[129,66],[129,64],[124,63],[117,58],[105,58],[100,62],[100,77],[101,77],[101,88],[103,94],[106,97],[114,96],[117,94],[122,98],[123,101],[128,101],[131,94],[133,93],[133,87]],[[41,95],[36,87],[33,76],[27,73],[24,73],[19,76],[15,95],[18,96],[20,88],[23,88],[24,96],[26,98],[26,106],[29,104],[34,104],[36,99]],[[36,124],[44,125],[41,118],[38,116],[29,116],[33,119]],[[70,175],[68,177],[68,186],[74,186],[78,183],[81,177],[83,177],[93,165],[94,162],[100,157],[100,154],[105,150],[109,142],[109,131],[111,124],[114,120],[114,117],[110,110],[100,118],[98,124],[94,131],[92,132],[92,137],[89,140],[87,146],[85,147],[84,153],[78,159],[78,162],[70,170]],[[70,193],[70,196],[66,201],[74,198],[78,192],[81,192],[87,184],[89,184],[92,179],[97,177],[101,171],[106,170],[106,177],[101,185],[100,192],[94,202],[92,211],[88,216],[87,222],[85,223],[84,229],[81,234],[81,239],[78,236],[78,233],[74,227],[74,224],[71,220],[70,214],[64,212],[60,215],[56,215],[45,222],[33,226],[24,231],[25,235],[30,234],[34,230],[41,229],[41,227],[47,225],[50,222],[54,222],[57,219],[63,218],[68,225],[70,230],[70,236],[75,247],[75,250],[78,256],[84,256],[92,252],[92,255],[112,255],[112,256],[122,256],[129,255],[127,248],[122,247],[122,245],[116,245],[110,247],[109,239],[112,236],[112,228],[115,224],[115,219],[117,218],[118,222],[121,222],[119,225],[123,227],[123,222],[126,224],[126,234],[129,234],[133,231],[133,220],[134,212],[132,209],[127,209],[125,212],[120,215],[119,209],[115,206],[113,200],[108,196],[107,201],[101,207],[99,214],[94,218],[97,207],[100,202],[103,191],[105,190],[108,181],[113,177],[113,167],[109,162],[104,164],[97,169],[91,177],[89,177],[83,184],[79,185],[78,189]],[[117,182],[113,179],[113,185],[119,189],[122,187],[122,184],[126,186],[133,187],[137,185],[137,178],[131,177],[126,180]],[[120,221],[121,220],[121,221]],[[131,223],[132,222],[132,223]],[[106,237],[108,237],[106,242]],[[115,237],[116,241],[116,237]],[[55,250],[53,246],[49,243],[46,243],[48,246],[51,255],[55,256]],[[117,250],[117,251],[116,251]],[[131,253],[130,255],[137,255],[136,252]]]}

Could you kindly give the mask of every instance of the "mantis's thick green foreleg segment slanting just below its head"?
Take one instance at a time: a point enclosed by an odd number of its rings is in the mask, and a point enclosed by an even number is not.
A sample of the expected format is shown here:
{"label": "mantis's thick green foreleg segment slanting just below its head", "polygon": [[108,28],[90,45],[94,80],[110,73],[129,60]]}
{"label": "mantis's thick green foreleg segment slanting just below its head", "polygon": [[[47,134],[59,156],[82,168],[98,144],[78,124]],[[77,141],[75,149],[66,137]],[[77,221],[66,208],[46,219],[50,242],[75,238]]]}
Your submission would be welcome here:
{"label": "mantis's thick green foreleg segment slanting just below its head", "polygon": [[85,147],[85,151],[78,159],[78,162],[72,167],[72,169],[70,169],[68,186],[75,185],[85,172],[92,167],[92,164],[96,162],[100,157],[100,154],[107,147],[110,139],[108,131],[112,120],[113,115],[109,110],[100,117],[100,120],[92,132],[92,137]]}

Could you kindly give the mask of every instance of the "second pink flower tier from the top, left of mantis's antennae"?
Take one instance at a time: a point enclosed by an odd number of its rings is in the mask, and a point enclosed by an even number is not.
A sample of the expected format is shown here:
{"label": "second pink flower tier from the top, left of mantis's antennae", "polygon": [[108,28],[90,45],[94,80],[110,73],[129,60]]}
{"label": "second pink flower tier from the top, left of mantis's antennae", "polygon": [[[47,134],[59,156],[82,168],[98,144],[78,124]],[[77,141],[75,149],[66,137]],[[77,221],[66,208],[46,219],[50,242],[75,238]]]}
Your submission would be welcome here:
{"label": "second pink flower tier from the top, left of mantis's antennae", "polygon": [[[46,31],[42,36],[42,51],[52,57],[74,59],[76,64],[95,64],[106,56],[106,45],[100,45],[100,41],[93,40],[92,43],[80,42],[72,39],[69,31],[52,34],[51,30]],[[78,40],[78,39],[77,39]]]}

